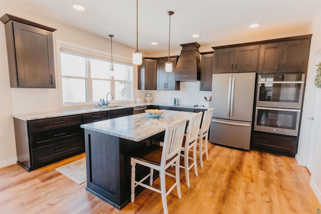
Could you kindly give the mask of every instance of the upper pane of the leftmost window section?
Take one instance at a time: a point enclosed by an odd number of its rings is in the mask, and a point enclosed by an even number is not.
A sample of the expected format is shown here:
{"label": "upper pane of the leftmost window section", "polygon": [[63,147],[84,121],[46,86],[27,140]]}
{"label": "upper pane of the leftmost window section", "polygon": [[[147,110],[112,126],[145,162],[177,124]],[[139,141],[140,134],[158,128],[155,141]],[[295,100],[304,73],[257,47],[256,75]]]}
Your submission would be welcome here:
{"label": "upper pane of the leftmost window section", "polygon": [[86,58],[61,53],[61,75],[87,77]]}

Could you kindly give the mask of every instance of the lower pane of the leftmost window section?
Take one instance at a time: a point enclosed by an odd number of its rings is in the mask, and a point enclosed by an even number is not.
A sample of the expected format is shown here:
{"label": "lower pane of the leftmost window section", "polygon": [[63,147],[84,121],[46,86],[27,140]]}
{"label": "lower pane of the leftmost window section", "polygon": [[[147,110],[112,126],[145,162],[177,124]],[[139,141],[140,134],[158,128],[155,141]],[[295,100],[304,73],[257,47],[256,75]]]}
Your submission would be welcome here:
{"label": "lower pane of the leftmost window section", "polygon": [[62,78],[64,103],[86,102],[86,80]]}

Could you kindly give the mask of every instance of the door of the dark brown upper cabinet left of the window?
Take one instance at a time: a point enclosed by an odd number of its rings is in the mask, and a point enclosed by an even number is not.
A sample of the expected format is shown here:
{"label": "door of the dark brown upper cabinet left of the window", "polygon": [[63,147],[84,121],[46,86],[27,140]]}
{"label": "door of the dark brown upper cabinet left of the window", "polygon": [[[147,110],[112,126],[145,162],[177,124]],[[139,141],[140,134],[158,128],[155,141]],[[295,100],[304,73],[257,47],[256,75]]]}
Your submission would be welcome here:
{"label": "door of the dark brown upper cabinet left of the window", "polygon": [[55,88],[52,33],[19,22],[13,28],[17,87]]}

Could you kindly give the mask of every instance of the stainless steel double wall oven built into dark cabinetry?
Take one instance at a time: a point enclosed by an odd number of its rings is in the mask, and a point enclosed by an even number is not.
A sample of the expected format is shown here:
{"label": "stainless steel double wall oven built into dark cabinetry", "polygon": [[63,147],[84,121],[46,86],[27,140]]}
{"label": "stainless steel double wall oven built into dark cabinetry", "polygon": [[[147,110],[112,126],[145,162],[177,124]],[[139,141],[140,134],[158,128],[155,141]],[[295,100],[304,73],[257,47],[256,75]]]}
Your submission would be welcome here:
{"label": "stainless steel double wall oven built into dark cabinetry", "polygon": [[297,136],[304,74],[258,76],[254,130]]}

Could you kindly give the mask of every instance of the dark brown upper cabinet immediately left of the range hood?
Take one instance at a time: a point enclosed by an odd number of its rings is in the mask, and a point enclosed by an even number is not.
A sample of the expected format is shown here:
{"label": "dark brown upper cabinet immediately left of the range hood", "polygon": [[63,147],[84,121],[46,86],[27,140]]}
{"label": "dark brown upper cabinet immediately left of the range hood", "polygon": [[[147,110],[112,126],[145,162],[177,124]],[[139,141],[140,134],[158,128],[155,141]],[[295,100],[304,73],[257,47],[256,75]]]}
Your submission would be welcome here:
{"label": "dark brown upper cabinet immediately left of the range hood", "polygon": [[165,63],[168,57],[157,59],[157,90],[180,90],[180,81],[175,81],[175,68],[178,56],[170,57],[173,63],[173,71],[166,72]]}

